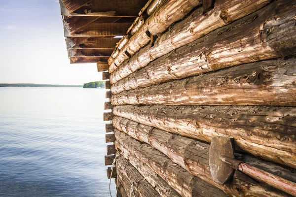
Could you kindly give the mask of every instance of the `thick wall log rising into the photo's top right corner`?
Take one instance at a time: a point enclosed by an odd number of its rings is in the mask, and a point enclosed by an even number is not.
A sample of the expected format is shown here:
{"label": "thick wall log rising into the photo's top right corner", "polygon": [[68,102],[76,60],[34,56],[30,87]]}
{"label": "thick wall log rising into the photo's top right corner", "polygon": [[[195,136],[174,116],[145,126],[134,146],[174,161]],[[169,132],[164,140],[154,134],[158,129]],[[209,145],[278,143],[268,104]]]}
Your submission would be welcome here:
{"label": "thick wall log rising into the photo's top right corner", "polygon": [[[295,54],[296,31],[290,19],[296,10],[277,2],[160,57],[115,83],[112,93]],[[275,16],[280,18],[276,23],[271,20]],[[267,29],[274,32],[266,35]]]}

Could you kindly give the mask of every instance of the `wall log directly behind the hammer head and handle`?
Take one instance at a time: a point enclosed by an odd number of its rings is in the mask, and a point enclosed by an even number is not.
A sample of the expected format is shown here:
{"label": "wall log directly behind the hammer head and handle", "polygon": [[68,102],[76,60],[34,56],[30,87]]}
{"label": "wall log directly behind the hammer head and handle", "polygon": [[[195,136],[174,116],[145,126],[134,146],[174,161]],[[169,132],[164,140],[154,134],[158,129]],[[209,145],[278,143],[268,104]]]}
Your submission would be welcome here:
{"label": "wall log directly behind the hammer head and handle", "polygon": [[[116,129],[125,132],[135,139],[148,143],[151,147],[159,150],[168,156],[173,162],[185,168],[192,175],[201,178],[211,185],[216,185],[210,172],[208,155],[210,148],[209,144],[158,130],[121,117],[114,117],[112,123]],[[240,159],[245,161],[246,159],[244,158],[247,158],[247,156],[240,155]],[[261,164],[259,168],[263,166],[264,170],[267,168],[266,171],[271,173],[282,171],[283,173],[281,175],[282,177],[284,175],[283,178],[296,179],[296,175],[292,175],[291,171],[286,170],[283,167],[264,161],[254,162],[254,159],[252,158],[248,158],[248,161],[251,165],[255,164],[259,166],[258,164]],[[239,193],[241,195],[244,194],[245,196],[257,196],[259,194],[262,196],[273,196],[278,195],[278,193],[282,193],[282,195],[285,196],[283,192],[279,192],[275,188],[269,187],[266,184],[258,184],[256,181],[250,181],[252,180],[250,177],[239,171],[235,172],[234,177],[236,178],[232,179],[230,183],[223,186],[218,185],[218,187],[226,194],[239,195],[237,194],[237,190],[239,190]],[[268,188],[268,192],[264,192],[266,187]],[[260,193],[258,193],[258,191],[260,191]],[[275,192],[275,194],[273,194],[273,192]]]}

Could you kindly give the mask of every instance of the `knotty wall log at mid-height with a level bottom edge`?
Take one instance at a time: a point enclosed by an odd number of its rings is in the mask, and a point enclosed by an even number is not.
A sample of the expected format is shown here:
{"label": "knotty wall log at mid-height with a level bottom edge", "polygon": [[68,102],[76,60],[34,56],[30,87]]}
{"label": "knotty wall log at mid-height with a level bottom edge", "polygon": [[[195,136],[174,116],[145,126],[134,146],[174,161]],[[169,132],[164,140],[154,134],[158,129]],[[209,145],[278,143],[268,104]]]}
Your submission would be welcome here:
{"label": "knotty wall log at mid-height with a level bottom edge", "polygon": [[112,105],[296,106],[296,58],[256,62],[125,91]]}

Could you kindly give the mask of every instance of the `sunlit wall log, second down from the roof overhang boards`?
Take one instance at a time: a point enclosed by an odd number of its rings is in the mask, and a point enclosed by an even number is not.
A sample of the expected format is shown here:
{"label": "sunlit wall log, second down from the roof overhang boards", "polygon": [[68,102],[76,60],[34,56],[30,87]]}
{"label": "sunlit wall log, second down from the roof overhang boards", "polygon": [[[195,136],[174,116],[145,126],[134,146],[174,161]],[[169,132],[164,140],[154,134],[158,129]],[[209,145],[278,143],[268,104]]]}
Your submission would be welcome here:
{"label": "sunlit wall log, second down from the roof overhang boards", "polygon": [[[135,54],[129,61],[124,62],[111,74],[111,83],[127,77],[132,72],[141,67],[145,67],[149,62],[188,44],[203,35],[210,33],[231,21],[235,21],[250,13],[253,13],[269,0],[217,0],[215,7],[206,15],[203,15],[203,8],[196,9],[183,21],[175,24],[168,32],[160,35],[154,45],[148,45]],[[204,45],[206,46],[206,45]],[[191,68],[190,68],[191,69]]]}

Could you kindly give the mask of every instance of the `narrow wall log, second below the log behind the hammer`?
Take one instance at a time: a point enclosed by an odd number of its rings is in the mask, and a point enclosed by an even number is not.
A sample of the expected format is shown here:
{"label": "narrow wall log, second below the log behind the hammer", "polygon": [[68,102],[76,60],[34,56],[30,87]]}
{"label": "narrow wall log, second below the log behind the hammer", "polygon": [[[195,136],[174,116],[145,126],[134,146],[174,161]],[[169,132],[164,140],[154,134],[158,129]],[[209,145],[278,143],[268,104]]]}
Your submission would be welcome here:
{"label": "narrow wall log, second below the log behind the hammer", "polygon": [[[155,173],[151,167],[143,163],[133,155],[129,154],[126,149],[122,148],[122,145],[115,140],[115,148],[120,154],[132,164],[145,179],[152,185],[161,197],[181,197],[173,188],[171,188],[163,178]],[[119,153],[118,153],[119,154]]]}

